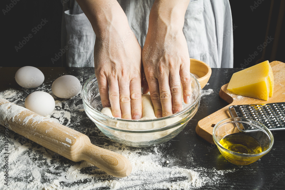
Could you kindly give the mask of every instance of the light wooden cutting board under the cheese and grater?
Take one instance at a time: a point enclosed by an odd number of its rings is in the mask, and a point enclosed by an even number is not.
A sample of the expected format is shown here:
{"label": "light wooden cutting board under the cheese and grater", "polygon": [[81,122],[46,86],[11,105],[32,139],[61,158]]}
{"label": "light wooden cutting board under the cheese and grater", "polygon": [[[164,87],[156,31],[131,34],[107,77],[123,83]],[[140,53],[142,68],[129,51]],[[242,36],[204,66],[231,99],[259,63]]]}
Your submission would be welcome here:
{"label": "light wooden cutting board under the cheese and grater", "polygon": [[201,119],[196,126],[196,133],[203,139],[214,144],[213,141],[213,127],[215,124],[223,119],[230,118],[228,108],[232,105],[244,105],[255,103],[274,103],[285,102],[285,63],[280,61],[273,61],[270,63],[274,75],[274,90],[273,96],[268,101],[236,95],[227,90],[229,83],[223,85],[219,92],[219,96],[227,101],[229,105],[212,113],[208,117]]}

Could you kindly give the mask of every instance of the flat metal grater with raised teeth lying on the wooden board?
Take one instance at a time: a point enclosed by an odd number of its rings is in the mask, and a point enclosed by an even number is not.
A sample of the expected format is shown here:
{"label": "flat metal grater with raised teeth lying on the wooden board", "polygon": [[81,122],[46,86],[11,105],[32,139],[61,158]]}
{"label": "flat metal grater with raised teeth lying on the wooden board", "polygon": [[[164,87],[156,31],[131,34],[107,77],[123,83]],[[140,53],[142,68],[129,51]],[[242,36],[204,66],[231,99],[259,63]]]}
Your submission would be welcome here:
{"label": "flat metal grater with raised teeth lying on the wooden board", "polygon": [[243,117],[264,124],[269,130],[285,130],[285,102],[233,105],[231,117]]}

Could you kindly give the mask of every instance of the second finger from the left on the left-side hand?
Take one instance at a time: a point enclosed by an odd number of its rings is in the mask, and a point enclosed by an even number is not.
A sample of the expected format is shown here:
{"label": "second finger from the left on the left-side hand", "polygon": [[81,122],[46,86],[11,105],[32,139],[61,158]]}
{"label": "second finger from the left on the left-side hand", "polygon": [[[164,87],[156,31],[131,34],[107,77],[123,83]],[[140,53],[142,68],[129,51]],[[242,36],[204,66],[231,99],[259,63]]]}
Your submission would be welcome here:
{"label": "second finger from the left on the left-side hand", "polygon": [[114,117],[122,117],[121,108],[120,108],[120,93],[119,93],[119,84],[117,78],[110,78],[109,83],[109,100],[112,109],[112,115]]}

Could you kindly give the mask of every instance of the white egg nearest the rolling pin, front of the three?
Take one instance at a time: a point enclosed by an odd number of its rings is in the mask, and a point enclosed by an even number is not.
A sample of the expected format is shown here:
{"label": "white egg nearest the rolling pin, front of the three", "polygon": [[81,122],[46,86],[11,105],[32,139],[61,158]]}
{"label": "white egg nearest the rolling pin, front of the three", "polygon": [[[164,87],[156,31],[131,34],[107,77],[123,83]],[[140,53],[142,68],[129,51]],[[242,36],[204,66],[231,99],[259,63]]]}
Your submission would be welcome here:
{"label": "white egg nearest the rolling pin, front of the three", "polygon": [[39,115],[47,116],[54,111],[55,101],[49,93],[36,91],[27,96],[25,107]]}

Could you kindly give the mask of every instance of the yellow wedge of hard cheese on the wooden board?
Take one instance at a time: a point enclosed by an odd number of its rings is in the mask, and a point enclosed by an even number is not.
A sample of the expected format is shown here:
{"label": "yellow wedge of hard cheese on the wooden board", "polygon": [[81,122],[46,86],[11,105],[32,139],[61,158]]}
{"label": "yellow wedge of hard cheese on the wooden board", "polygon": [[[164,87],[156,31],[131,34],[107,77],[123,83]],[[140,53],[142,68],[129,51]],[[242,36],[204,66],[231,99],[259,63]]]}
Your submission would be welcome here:
{"label": "yellow wedge of hard cheese on the wooden board", "polygon": [[233,74],[227,89],[233,93],[268,100],[273,95],[273,72],[268,61]]}

